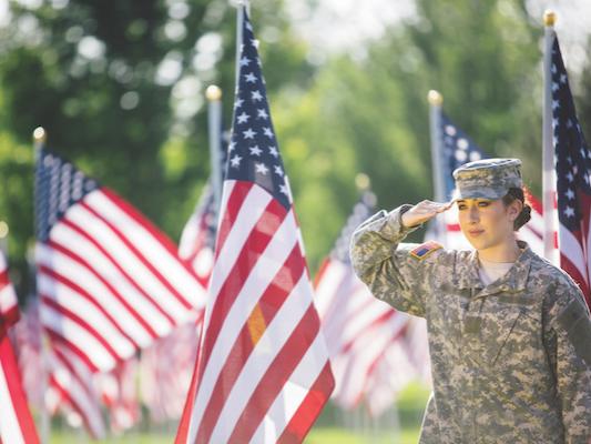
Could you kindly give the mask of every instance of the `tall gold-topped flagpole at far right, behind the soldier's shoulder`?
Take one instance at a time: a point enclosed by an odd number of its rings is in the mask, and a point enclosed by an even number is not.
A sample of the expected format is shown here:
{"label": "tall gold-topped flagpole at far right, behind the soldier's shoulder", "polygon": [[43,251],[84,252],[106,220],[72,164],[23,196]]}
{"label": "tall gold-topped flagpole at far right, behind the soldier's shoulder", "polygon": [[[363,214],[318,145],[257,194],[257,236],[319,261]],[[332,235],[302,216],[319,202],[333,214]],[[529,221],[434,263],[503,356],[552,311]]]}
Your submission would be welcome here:
{"label": "tall gold-topped flagpole at far right, behind the soldier's shoulder", "polygon": [[556,39],[556,13],[543,14],[543,114],[542,114],[542,208],[543,208],[543,252],[546,259],[558,265],[554,235],[557,233],[554,211],[554,147],[552,143],[552,46]]}

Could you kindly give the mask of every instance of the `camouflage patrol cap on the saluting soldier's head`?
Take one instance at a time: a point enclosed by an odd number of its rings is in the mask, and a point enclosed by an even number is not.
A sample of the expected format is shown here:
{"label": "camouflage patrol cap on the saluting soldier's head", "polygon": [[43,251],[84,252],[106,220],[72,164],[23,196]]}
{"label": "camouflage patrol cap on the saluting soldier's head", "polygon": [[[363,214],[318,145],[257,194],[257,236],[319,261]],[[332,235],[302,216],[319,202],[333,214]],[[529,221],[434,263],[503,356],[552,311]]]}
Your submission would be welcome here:
{"label": "camouflage patrol cap on the saluting soldier's head", "polygon": [[483,159],[454,171],[458,199],[501,199],[510,188],[521,188],[519,159]]}

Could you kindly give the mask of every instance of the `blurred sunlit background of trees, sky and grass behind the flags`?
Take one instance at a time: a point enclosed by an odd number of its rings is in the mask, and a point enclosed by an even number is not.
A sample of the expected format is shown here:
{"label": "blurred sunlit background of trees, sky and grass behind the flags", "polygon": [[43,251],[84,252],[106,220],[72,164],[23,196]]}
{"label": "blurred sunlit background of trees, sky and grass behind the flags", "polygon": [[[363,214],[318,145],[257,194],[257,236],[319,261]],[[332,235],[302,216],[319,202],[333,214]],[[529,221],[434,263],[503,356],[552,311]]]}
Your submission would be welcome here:
{"label": "blurred sunlit background of trees, sky and grass behind the flags", "polygon": [[[522,158],[540,195],[548,8],[590,135],[588,0],[251,2],[313,275],[358,198],[358,173],[386,209],[432,196],[429,89],[490,155]],[[205,89],[222,88],[230,129],[234,58],[228,0],[0,0],[0,220],[21,302],[32,287],[32,130],[43,125],[53,150],[177,241],[210,175]],[[309,442],[344,443],[350,431],[350,442],[415,442],[428,391],[412,383],[373,423],[330,407]],[[59,425],[54,442],[85,440]],[[175,426],[157,431],[170,441]]]}

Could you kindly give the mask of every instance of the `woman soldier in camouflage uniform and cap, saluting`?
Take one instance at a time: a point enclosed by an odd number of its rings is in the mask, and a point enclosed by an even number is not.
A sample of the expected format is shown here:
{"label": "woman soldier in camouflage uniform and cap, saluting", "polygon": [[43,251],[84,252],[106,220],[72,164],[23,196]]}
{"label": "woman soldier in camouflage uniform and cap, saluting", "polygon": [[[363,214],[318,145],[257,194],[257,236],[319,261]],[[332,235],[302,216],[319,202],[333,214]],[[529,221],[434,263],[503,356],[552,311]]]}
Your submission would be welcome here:
{"label": "woman soldier in camouflage uniform and cap, saluting", "polygon": [[353,235],[374,295],[426,317],[434,393],[420,443],[575,443],[591,438],[591,316],[577,284],[514,231],[529,220],[521,161],[454,172],[475,251],[400,243],[450,203],[384,210]]}

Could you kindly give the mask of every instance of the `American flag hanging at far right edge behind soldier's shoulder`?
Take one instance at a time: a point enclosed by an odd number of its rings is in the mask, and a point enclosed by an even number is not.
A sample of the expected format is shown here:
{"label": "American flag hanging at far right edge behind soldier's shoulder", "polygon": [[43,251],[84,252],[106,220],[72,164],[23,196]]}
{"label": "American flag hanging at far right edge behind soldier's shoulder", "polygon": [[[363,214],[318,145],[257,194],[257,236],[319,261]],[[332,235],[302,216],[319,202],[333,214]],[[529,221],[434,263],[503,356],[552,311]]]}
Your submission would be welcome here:
{"label": "American flag hanging at far right edge behind soldier's shoulder", "polygon": [[558,38],[551,60],[560,265],[577,281],[591,306],[591,151],[577,119]]}

